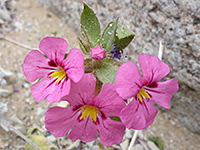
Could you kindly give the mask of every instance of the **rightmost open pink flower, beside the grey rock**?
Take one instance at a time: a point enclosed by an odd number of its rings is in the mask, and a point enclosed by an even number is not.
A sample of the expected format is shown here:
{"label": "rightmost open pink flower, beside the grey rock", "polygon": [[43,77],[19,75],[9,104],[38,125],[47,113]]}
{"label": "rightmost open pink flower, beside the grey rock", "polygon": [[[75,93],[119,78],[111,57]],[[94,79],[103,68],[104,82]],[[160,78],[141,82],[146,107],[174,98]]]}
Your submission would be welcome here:
{"label": "rightmost open pink flower, beside the grey rock", "polygon": [[170,69],[157,57],[139,55],[143,78],[134,62],[120,66],[116,75],[116,90],[124,99],[133,100],[120,112],[120,118],[127,128],[136,130],[150,126],[157,114],[154,103],[170,109],[172,94],[178,91],[178,79],[158,82]]}

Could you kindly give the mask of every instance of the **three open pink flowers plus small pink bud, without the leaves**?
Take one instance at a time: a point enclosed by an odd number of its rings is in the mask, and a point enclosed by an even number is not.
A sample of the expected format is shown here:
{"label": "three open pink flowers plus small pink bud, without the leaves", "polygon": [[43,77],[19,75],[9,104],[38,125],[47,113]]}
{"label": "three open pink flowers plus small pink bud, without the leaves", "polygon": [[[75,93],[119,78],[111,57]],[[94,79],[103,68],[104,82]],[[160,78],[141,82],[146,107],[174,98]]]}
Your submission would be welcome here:
{"label": "three open pink flowers plus small pink bud, without the leaves", "polygon": [[[143,77],[134,62],[124,63],[116,73],[115,83],[102,84],[98,92],[96,77],[84,73],[82,52],[71,49],[66,53],[67,46],[62,38],[46,37],[40,42],[40,51],[32,50],[23,64],[26,78],[30,82],[38,80],[31,87],[36,102],[46,98],[50,103],[70,104],[46,112],[45,127],[54,136],[67,135],[72,141],[90,142],[99,132],[103,145],[118,144],[126,127],[141,130],[153,123],[157,114],[154,103],[170,108],[178,80],[159,82],[170,69],[157,57],[139,55]],[[98,61],[106,51],[98,45],[91,52],[91,57]],[[127,99],[131,100],[129,104]]]}

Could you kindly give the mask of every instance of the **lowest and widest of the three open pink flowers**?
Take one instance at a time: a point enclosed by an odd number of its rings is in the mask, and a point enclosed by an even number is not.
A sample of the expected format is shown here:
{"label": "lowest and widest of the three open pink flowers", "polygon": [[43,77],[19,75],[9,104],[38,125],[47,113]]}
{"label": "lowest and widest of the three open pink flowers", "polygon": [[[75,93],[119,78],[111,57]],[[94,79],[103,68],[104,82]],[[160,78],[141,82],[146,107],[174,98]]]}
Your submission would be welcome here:
{"label": "lowest and widest of the three open pink flowers", "polygon": [[56,137],[65,136],[90,142],[100,132],[103,145],[118,144],[123,139],[125,127],[121,122],[109,117],[119,116],[125,106],[115,91],[114,84],[104,84],[95,97],[96,80],[92,74],[85,74],[79,83],[72,83],[69,95],[62,98],[71,107],[52,107],[46,113],[45,126]]}

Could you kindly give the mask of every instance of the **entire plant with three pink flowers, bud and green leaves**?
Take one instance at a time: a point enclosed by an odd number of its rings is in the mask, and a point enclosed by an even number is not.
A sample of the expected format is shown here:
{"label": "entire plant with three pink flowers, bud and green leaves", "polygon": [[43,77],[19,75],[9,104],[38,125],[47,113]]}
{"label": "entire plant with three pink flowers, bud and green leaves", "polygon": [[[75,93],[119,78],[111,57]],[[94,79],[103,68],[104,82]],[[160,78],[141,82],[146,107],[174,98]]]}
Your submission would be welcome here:
{"label": "entire plant with three pink flowers, bud and green leaves", "polygon": [[[80,49],[67,51],[68,43],[58,37],[41,40],[39,50],[25,58],[23,71],[32,85],[36,102],[67,101],[69,107],[54,106],[46,112],[45,127],[56,137],[67,135],[91,142],[100,136],[106,146],[119,144],[126,128],[142,130],[154,121],[154,103],[170,109],[178,91],[178,79],[160,80],[170,69],[159,58],[139,55],[137,65],[121,65],[124,50],[134,38],[126,26],[112,20],[101,33],[92,9],[84,4],[81,14]],[[83,55],[84,54],[84,55]]]}

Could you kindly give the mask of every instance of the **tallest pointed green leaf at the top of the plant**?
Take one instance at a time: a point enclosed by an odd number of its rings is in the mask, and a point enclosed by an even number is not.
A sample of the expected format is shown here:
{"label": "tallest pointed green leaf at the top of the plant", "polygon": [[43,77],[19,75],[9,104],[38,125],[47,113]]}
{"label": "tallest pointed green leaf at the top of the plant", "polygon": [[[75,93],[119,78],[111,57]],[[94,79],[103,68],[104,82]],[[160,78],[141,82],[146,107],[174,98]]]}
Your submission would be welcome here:
{"label": "tallest pointed green leaf at the top of the plant", "polygon": [[[91,47],[97,47],[101,34],[100,23],[94,11],[86,4],[84,4],[84,9],[81,14],[81,26],[83,26],[89,38],[91,39]],[[83,28],[81,28],[81,32],[85,32],[83,31]]]}

